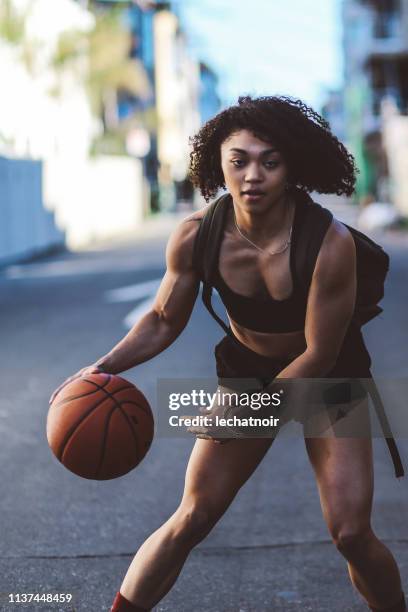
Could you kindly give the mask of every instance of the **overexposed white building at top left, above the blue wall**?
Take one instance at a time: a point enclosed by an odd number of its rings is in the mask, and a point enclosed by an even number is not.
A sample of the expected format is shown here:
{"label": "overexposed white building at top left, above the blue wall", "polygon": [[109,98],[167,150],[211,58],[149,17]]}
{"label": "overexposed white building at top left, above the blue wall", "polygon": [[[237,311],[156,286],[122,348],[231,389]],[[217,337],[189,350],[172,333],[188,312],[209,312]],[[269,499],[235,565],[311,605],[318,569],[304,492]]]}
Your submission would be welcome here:
{"label": "overexposed white building at top left, above the blue wall", "polygon": [[93,17],[72,0],[58,6],[53,0],[14,0],[10,7],[10,29],[19,24],[20,34],[0,36],[1,152],[37,159],[61,149],[83,155],[96,128],[79,82],[85,67],[78,63],[75,80],[54,70],[53,57],[60,35],[67,29],[89,31]]}

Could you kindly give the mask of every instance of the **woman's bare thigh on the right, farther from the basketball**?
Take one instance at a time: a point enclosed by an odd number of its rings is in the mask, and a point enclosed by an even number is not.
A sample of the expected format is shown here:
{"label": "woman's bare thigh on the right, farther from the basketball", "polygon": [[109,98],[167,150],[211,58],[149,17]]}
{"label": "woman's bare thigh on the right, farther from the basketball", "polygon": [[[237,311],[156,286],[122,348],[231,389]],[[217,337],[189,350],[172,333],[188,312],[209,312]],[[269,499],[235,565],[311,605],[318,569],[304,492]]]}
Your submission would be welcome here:
{"label": "woman's bare thigh on the right, farther from the basketball", "polygon": [[[366,410],[367,406],[361,407]],[[371,437],[305,438],[323,514],[331,524],[369,521],[373,497]]]}

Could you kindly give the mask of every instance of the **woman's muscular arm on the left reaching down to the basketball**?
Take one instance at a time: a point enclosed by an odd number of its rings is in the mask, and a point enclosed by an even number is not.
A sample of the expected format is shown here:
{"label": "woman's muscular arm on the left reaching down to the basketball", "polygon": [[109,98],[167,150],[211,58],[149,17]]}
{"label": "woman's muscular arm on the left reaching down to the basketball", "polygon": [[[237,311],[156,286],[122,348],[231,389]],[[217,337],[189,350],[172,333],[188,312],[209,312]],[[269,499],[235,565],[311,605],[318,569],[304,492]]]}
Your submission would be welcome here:
{"label": "woman's muscular arm on the left reaching down to the basketball", "polygon": [[119,374],[155,357],[176,340],[188,323],[200,284],[192,261],[198,226],[199,216],[194,215],[171,235],[166,249],[166,273],[151,310],[109,353],[65,380],[54,391],[50,402],[79,376],[98,371]]}

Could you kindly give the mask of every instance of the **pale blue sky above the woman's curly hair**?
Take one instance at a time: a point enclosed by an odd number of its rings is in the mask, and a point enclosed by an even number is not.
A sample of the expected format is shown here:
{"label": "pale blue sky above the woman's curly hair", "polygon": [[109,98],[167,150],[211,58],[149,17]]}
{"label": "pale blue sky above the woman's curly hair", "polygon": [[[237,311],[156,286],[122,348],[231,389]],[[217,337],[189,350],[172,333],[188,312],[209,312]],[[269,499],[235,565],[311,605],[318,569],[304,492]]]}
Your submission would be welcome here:
{"label": "pale blue sky above the woman's curly hair", "polygon": [[341,0],[175,0],[195,56],[238,95],[286,94],[317,110],[341,86]]}

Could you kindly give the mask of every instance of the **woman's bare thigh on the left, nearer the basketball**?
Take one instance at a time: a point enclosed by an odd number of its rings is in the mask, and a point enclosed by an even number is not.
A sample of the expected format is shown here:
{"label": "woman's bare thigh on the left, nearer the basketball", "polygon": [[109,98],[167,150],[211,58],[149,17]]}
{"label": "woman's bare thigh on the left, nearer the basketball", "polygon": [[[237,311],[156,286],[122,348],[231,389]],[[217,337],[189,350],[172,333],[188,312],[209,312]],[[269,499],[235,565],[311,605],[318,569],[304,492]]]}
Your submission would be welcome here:
{"label": "woman's bare thigh on the left, nearer the basketball", "polygon": [[201,499],[223,512],[251,476],[272,439],[196,440],[186,472],[183,499]]}

